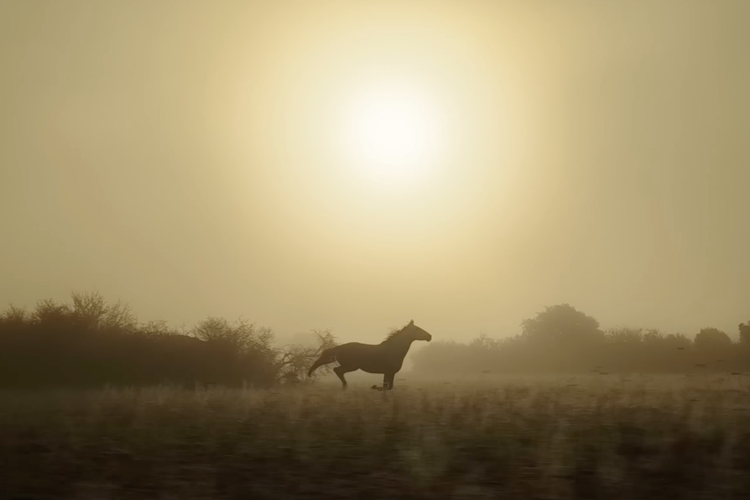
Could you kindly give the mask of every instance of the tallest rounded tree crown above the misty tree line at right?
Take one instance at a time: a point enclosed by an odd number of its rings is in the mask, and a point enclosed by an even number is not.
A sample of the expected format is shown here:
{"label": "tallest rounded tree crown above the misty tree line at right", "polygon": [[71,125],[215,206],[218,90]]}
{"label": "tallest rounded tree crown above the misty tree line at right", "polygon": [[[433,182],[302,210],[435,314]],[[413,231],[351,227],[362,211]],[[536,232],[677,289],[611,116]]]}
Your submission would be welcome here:
{"label": "tallest rounded tree crown above the misty tree line at right", "polygon": [[582,344],[604,338],[596,319],[568,304],[548,306],[521,327],[521,338],[532,342]]}

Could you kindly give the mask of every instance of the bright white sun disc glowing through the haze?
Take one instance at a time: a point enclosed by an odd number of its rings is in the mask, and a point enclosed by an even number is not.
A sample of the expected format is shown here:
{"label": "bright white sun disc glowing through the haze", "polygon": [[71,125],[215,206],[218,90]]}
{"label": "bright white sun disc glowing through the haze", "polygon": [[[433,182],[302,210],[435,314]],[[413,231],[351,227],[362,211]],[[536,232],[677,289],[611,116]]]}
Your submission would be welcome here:
{"label": "bright white sun disc glowing through the haze", "polygon": [[371,179],[417,180],[441,148],[442,123],[434,100],[409,85],[373,85],[347,109],[350,158]]}

